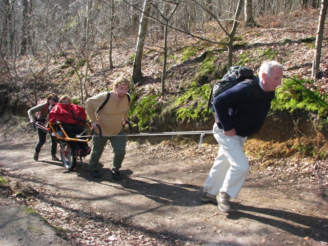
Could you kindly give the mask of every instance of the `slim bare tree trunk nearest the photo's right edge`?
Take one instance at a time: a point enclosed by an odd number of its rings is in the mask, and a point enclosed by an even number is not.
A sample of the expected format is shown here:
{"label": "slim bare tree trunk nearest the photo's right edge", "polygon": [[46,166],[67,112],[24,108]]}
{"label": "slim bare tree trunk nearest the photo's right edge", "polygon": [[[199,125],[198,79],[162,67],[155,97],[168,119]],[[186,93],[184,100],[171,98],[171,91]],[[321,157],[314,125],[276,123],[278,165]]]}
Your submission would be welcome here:
{"label": "slim bare tree trunk nearest the photo's right edge", "polygon": [[324,22],[327,14],[328,0],[321,1],[321,10],[319,15],[318,31],[316,37],[316,48],[314,52],[313,65],[312,65],[312,77],[318,78],[320,75],[320,58],[322,48],[322,38],[324,31]]}

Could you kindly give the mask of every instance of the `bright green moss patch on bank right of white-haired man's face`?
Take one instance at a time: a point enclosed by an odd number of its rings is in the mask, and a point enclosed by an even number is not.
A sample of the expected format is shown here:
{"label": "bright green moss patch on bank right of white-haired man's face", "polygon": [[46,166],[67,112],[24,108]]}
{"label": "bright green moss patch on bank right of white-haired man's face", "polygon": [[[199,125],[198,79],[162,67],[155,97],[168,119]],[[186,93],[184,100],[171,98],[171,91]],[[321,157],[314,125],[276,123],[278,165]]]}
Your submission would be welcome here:
{"label": "bright green moss patch on bank right of white-haired man's face", "polygon": [[328,116],[327,96],[305,88],[308,80],[285,79],[282,87],[277,89],[276,98],[272,101],[272,109],[294,112],[296,110],[311,111],[319,117]]}

